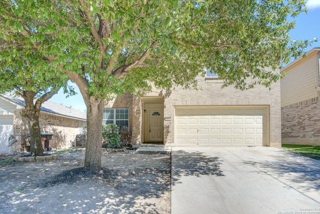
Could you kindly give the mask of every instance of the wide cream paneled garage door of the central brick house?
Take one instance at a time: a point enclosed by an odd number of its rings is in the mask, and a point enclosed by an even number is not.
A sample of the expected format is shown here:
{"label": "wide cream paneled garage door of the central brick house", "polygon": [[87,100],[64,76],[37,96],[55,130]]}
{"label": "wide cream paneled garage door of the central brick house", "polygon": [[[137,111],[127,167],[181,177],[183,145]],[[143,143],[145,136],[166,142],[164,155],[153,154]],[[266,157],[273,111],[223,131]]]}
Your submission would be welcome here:
{"label": "wide cream paneled garage door of the central brick house", "polygon": [[265,146],[267,107],[175,107],[177,146]]}

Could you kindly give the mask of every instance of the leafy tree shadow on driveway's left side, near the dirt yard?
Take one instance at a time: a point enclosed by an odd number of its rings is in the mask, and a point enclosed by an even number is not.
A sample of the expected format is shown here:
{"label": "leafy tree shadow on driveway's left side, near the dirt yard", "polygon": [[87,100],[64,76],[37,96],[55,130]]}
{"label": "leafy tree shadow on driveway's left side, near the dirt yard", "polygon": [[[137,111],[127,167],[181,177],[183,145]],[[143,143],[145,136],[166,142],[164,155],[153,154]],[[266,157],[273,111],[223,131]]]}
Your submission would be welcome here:
{"label": "leafy tree shadow on driveway's left side, near the dirt yard", "polygon": [[172,165],[172,185],[179,183],[182,176],[213,175],[224,176],[220,169],[221,160],[218,157],[205,156],[201,152],[174,151],[171,154],[174,161]]}

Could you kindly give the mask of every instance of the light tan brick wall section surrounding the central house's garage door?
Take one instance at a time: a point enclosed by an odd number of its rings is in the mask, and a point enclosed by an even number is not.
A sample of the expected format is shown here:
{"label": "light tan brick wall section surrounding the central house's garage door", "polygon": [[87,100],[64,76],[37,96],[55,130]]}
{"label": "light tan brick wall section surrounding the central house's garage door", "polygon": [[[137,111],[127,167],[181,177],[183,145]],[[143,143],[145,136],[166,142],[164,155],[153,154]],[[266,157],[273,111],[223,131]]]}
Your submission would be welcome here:
{"label": "light tan brick wall section surrounding the central house's garage door", "polygon": [[[221,89],[222,81],[216,79],[205,80],[197,77],[201,90],[176,87],[164,99],[164,117],[171,117],[164,121],[164,143],[174,142],[174,106],[268,106],[269,137],[268,146],[281,146],[281,109],[280,109],[280,82],[272,84],[271,90],[264,86],[256,85],[253,89],[240,91],[232,86]],[[161,91],[152,90],[145,96],[163,95]]]}

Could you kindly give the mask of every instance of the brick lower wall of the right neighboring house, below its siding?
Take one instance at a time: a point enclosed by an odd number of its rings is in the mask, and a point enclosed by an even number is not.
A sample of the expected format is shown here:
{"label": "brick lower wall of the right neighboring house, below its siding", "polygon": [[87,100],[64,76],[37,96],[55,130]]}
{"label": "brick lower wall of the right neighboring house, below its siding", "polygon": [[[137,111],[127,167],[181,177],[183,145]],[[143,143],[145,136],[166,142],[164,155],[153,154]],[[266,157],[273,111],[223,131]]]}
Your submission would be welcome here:
{"label": "brick lower wall of the right neighboring house, below its siding", "polygon": [[320,145],[319,112],[318,97],[282,107],[282,143]]}

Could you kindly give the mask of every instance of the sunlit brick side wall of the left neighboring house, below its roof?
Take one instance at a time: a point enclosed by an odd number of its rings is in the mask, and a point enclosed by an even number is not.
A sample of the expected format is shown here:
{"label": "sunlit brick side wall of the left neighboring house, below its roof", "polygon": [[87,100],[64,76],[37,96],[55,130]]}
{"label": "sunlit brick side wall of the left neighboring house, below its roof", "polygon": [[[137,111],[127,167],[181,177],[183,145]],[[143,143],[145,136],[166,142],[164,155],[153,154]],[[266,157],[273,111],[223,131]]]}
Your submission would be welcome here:
{"label": "sunlit brick side wall of the left neighboring house, below its roof", "polygon": [[[14,135],[18,139],[17,146],[19,150],[23,150],[23,138],[26,138],[29,134],[28,120],[21,117],[21,110],[14,112],[13,120]],[[52,139],[49,141],[51,148],[70,147],[70,141],[74,141],[75,135],[82,128],[82,123],[85,123],[85,121],[45,113],[41,113],[39,116],[40,132],[53,134]]]}

